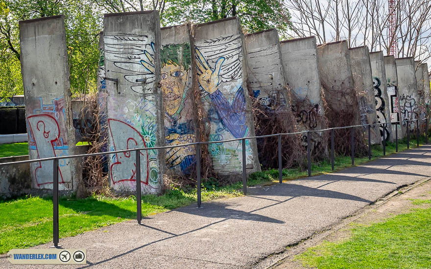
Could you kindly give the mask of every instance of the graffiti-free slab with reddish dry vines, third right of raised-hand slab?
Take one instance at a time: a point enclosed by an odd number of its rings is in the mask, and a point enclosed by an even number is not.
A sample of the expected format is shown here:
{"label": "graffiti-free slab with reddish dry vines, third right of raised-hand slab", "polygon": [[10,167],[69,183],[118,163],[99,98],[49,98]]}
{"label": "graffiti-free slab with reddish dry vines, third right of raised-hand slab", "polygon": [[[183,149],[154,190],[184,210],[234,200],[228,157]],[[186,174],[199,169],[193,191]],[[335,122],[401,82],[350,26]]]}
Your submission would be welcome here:
{"label": "graffiti-free slab with reddish dry vines, third right of raised-hand slab", "polygon": [[359,125],[358,98],[350,67],[347,41],[317,46],[320,82],[328,110],[329,127]]}

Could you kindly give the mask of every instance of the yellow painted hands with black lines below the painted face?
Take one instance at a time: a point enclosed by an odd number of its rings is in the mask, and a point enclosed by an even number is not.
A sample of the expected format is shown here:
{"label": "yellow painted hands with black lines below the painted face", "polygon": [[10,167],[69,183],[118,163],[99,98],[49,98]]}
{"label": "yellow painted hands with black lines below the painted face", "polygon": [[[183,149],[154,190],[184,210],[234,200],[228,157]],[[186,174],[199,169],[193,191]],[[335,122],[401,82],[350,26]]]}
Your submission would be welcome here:
{"label": "yellow painted hands with black lines below the painted face", "polygon": [[[166,140],[173,140],[167,143],[167,146],[175,146],[187,143],[193,143],[196,141],[196,136],[194,134],[168,134]],[[171,148],[166,152],[167,158],[166,163],[169,167],[176,166],[181,163],[181,161],[189,155],[195,155],[196,150],[194,145],[191,146],[181,146],[176,148]]]}

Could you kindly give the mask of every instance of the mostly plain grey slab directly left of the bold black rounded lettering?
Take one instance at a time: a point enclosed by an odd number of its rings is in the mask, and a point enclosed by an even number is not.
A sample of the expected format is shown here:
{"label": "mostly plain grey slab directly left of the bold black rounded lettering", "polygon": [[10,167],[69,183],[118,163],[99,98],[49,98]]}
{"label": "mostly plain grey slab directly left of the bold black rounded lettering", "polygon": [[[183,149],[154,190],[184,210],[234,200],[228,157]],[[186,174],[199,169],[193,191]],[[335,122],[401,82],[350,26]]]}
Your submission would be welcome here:
{"label": "mostly plain grey slab directly left of the bold black rounded lettering", "polygon": [[[376,114],[376,98],[373,89],[373,76],[371,73],[370,53],[367,46],[350,48],[350,67],[352,68],[353,82],[359,95],[360,123],[362,125],[381,123]],[[378,121],[379,120],[379,121]],[[384,125],[386,121],[384,121]],[[364,127],[368,132],[368,127]],[[383,136],[378,125],[370,128],[371,143],[381,145]],[[383,132],[382,132],[383,134]],[[385,136],[386,139],[389,135]]]}

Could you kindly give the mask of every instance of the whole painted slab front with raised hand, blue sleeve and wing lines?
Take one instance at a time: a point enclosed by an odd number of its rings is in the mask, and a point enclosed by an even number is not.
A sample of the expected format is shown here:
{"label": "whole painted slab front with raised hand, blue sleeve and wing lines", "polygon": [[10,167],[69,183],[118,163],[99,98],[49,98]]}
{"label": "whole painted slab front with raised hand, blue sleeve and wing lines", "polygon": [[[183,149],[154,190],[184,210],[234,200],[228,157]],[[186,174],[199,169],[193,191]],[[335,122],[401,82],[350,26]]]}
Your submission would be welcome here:
{"label": "whole painted slab front with raised hand, blue sleeve and wing lines", "polygon": [[[230,35],[196,42],[195,58],[201,98],[208,111],[209,140],[247,136],[241,36]],[[210,144],[209,152],[216,170],[240,171],[240,142]],[[247,162],[251,162],[248,140],[246,157]]]}

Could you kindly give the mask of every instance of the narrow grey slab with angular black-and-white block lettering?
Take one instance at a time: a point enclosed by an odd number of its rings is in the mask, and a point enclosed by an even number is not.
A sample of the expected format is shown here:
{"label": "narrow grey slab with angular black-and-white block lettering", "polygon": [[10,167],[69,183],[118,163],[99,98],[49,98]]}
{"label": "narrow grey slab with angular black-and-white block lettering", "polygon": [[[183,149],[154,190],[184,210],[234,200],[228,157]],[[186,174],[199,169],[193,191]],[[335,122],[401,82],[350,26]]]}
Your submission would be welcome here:
{"label": "narrow grey slab with angular black-and-white block lettering", "polygon": [[[401,110],[399,102],[400,94],[398,91],[397,65],[393,55],[384,56],[384,70],[386,74],[387,95],[390,104],[390,120],[391,122],[397,122],[400,121],[402,117],[400,113]],[[398,138],[403,138],[404,133],[406,133],[406,130],[404,130],[406,127],[400,123],[391,123],[391,125],[392,134],[395,134],[395,132],[398,130]]]}

